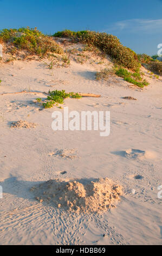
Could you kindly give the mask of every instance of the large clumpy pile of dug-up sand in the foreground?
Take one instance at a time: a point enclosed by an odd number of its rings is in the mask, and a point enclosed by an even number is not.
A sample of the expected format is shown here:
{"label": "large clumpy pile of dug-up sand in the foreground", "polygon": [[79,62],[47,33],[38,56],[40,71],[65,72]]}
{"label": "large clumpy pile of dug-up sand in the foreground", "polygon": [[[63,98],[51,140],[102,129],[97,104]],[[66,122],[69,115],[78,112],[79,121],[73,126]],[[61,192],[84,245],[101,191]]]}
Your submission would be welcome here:
{"label": "large clumpy pile of dug-up sand in the foreground", "polygon": [[35,198],[57,208],[75,212],[100,212],[115,207],[122,187],[112,180],[49,180],[32,187]]}

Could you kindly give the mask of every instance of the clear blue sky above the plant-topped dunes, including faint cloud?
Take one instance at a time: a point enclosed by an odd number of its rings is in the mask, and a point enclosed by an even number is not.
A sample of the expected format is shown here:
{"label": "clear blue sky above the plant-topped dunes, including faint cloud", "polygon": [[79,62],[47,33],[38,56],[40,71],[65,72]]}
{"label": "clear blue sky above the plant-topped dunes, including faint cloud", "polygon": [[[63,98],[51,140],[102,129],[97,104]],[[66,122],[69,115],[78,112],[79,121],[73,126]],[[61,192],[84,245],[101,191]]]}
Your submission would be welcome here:
{"label": "clear blue sky above the plant-topped dunes, including faint cloud", "polygon": [[150,55],[162,44],[162,0],[0,0],[0,10],[0,29],[107,32],[135,52]]}

